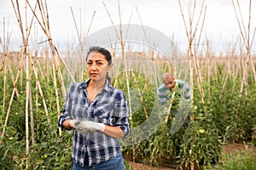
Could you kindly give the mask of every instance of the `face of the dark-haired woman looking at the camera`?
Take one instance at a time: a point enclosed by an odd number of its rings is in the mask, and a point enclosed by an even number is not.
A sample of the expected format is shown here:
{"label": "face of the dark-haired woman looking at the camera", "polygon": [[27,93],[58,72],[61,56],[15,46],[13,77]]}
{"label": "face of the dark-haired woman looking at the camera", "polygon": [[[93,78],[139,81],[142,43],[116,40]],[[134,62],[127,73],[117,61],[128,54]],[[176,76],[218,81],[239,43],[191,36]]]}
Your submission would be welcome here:
{"label": "face of the dark-haired woman looking at the camera", "polygon": [[96,82],[106,79],[108,69],[108,60],[101,53],[91,52],[87,57],[87,72],[90,80]]}

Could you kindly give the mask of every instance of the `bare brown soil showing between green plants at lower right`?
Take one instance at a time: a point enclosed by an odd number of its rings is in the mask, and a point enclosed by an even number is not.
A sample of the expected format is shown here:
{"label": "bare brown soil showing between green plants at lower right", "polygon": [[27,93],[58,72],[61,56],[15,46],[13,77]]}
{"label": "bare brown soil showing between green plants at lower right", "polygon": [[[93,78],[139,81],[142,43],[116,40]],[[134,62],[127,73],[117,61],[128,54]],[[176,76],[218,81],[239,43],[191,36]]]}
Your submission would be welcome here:
{"label": "bare brown soil showing between green plants at lower right", "polygon": [[[245,144],[226,144],[222,148],[223,154],[237,153],[243,150],[253,150],[253,156],[255,156],[256,159],[256,145],[252,148],[250,146],[247,147]],[[129,164],[131,165],[132,170],[174,170],[170,167],[151,167],[143,163],[133,161],[129,161]]]}

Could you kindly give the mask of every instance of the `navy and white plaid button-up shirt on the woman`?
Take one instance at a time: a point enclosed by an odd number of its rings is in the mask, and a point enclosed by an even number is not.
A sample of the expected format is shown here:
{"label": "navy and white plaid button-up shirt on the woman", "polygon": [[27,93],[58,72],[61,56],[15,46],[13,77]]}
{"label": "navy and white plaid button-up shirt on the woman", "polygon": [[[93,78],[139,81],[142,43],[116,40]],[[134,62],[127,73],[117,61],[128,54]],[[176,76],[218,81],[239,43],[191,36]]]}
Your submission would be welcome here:
{"label": "navy and white plaid button-up shirt on the woman", "polygon": [[[125,138],[128,137],[130,127],[124,92],[113,88],[107,81],[102,92],[89,104],[86,92],[89,82],[90,79],[86,82],[74,82],[71,85],[58,126],[64,128],[62,123],[67,119],[90,120],[120,127],[125,133]],[[81,166],[84,166],[84,162],[88,162],[90,167],[108,161],[120,151],[119,139],[114,139],[105,133],[96,131],[83,135],[76,130],[73,132],[72,157]]]}

